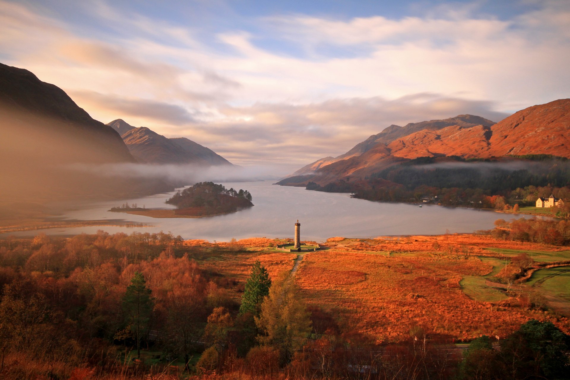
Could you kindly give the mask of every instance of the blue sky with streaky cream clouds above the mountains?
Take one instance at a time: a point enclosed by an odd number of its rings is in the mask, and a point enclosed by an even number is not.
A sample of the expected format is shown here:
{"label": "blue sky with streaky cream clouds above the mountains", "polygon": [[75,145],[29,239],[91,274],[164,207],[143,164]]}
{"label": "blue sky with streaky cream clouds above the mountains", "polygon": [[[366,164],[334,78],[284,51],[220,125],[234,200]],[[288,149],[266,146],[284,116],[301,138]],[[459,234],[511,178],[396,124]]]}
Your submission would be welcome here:
{"label": "blue sky with streaky cream clouds above the mountains", "polygon": [[391,124],[569,97],[570,1],[0,0],[0,62],[287,174]]}

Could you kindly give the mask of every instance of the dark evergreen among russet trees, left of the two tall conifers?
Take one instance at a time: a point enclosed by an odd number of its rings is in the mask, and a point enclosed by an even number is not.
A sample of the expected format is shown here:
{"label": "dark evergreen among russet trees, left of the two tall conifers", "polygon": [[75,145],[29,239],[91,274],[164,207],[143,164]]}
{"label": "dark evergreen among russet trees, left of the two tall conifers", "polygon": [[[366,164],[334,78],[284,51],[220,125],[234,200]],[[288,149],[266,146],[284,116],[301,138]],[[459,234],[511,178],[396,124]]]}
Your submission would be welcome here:
{"label": "dark evergreen among russet trees, left of the two tall conifers", "polygon": [[131,279],[131,285],[127,287],[127,292],[123,296],[123,311],[127,319],[127,324],[137,342],[137,357],[140,358],[140,342],[144,329],[148,328],[150,312],[153,309],[154,299],[150,297],[152,291],[146,287],[143,273],[135,272]]}

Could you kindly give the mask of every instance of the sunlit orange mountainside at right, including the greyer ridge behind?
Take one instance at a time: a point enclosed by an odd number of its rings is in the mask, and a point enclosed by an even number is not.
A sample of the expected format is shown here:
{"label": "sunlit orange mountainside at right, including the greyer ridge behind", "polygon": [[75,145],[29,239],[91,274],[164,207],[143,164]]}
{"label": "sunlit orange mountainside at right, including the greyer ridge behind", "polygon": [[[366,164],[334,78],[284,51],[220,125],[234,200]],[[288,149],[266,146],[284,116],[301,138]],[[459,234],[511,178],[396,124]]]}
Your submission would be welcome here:
{"label": "sunlit orange mountainside at right, including the greyer ridge behind", "polygon": [[570,99],[561,99],[528,107],[497,124],[459,115],[404,127],[391,125],[342,156],[304,166],[279,183],[302,186],[311,181],[324,186],[339,180],[357,181],[418,157],[488,159],[551,154],[570,158],[569,140]]}

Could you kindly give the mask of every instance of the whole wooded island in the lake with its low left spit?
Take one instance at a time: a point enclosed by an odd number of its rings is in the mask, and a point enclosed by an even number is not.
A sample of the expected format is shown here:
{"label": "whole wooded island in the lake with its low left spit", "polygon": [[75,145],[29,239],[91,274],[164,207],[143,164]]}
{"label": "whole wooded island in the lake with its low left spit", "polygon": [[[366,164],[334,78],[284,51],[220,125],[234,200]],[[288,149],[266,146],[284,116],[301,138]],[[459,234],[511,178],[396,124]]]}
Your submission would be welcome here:
{"label": "whole wooded island in the lake with its low left spit", "polygon": [[229,190],[214,182],[198,182],[179,190],[165,203],[174,205],[176,210],[145,209],[137,205],[113,207],[109,211],[144,215],[152,218],[201,218],[202,216],[235,213],[246,207],[252,207],[251,193],[247,190]]}

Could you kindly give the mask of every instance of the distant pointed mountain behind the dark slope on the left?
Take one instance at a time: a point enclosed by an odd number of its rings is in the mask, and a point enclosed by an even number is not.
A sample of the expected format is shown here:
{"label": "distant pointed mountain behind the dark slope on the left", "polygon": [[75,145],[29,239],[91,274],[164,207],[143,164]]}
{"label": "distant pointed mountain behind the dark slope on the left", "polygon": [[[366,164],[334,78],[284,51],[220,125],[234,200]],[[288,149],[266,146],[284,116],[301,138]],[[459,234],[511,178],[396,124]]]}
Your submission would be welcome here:
{"label": "distant pointed mountain behind the dark slope on the left", "polygon": [[117,119],[107,125],[112,126],[121,137],[131,154],[139,161],[148,164],[197,164],[231,165],[219,154],[185,137],[166,138],[145,127],[135,128]]}

